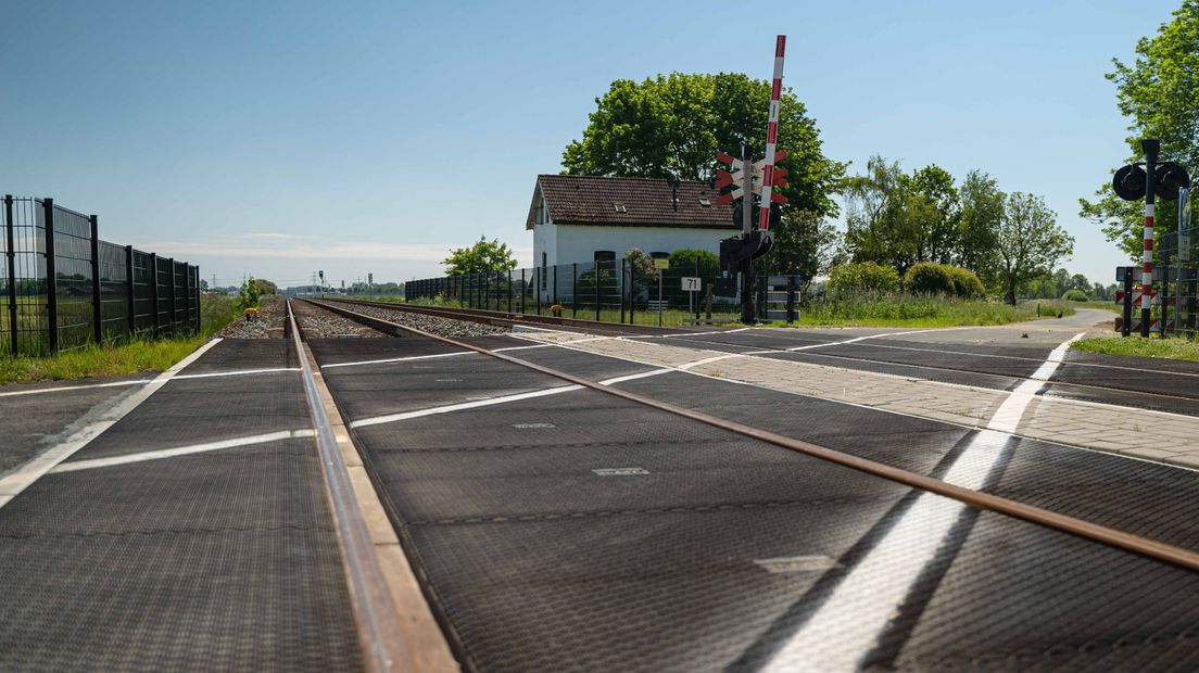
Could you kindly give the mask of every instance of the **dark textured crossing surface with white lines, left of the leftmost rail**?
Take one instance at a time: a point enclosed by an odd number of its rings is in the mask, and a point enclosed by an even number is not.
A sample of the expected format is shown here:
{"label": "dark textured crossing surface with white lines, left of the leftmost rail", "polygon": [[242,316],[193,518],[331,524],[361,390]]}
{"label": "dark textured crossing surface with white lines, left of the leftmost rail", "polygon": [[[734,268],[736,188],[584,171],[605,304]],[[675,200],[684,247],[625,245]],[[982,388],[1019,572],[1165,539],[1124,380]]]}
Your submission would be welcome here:
{"label": "dark textured crossing surface with white lines, left of the leftmost rail", "polygon": [[62,412],[2,420],[35,431],[0,467],[0,668],[362,667],[288,347],[4,400]]}

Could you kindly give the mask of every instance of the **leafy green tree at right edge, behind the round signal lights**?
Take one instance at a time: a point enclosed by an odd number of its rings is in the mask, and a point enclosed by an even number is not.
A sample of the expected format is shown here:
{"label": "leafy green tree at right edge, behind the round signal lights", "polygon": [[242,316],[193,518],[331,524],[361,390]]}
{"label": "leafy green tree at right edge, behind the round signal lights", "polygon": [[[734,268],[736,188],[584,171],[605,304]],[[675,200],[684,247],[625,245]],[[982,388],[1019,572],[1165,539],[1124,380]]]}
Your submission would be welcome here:
{"label": "leafy green tree at right edge, behind the round signal lights", "polygon": [[[1183,0],[1173,17],[1158,28],[1156,36],[1140,38],[1132,65],[1113,59],[1115,69],[1105,77],[1116,85],[1120,111],[1131,121],[1128,160],[1140,158],[1141,138],[1157,138],[1162,141],[1163,158],[1195,169],[1199,168],[1199,0]],[[1108,241],[1120,245],[1133,261],[1140,261],[1141,204],[1117,198],[1111,193],[1110,181],[1095,196],[1095,201],[1078,200],[1079,214],[1099,224]],[[1156,224],[1158,236],[1175,231],[1175,208],[1159,206]]]}

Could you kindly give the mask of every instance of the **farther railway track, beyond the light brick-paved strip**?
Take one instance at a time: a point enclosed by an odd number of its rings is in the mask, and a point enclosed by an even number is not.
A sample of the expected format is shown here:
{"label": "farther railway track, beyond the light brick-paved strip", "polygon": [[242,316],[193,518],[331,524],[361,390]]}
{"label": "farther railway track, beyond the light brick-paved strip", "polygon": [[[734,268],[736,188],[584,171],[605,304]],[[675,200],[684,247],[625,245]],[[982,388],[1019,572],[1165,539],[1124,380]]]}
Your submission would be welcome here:
{"label": "farther railway track, beyond the light brick-paved strip", "polygon": [[[1137,387],[1133,384],[1121,386],[1119,381],[1111,384],[1096,384],[1096,383],[1079,383],[1072,381],[1056,381],[1049,380],[1044,381],[1041,378],[1034,378],[1032,376],[1025,376],[1011,370],[996,370],[994,368],[988,369],[986,366],[946,366],[936,365],[929,363],[916,363],[905,360],[900,357],[894,358],[882,358],[882,357],[858,357],[846,353],[827,353],[820,352],[817,348],[825,347],[850,347],[850,348],[879,348],[885,351],[896,351],[900,353],[923,353],[938,352],[940,354],[947,356],[962,356],[976,358],[983,362],[1002,362],[1002,363],[1028,363],[1030,369],[1036,369],[1044,358],[1032,358],[1024,356],[1011,356],[1011,354],[995,354],[995,353],[972,353],[968,351],[953,351],[953,350],[936,350],[911,347],[911,346],[899,346],[893,344],[882,344],[878,340],[863,340],[854,341],[846,344],[838,342],[826,342],[800,346],[788,348],[785,346],[777,350],[770,350],[764,347],[752,347],[746,344],[737,344],[734,341],[722,341],[718,338],[713,338],[711,329],[698,329],[698,328],[675,328],[675,329],[663,329],[650,326],[613,326],[610,323],[597,323],[594,321],[578,321],[567,320],[562,323],[553,322],[554,319],[543,320],[538,316],[522,316],[520,314],[495,314],[494,311],[482,311],[475,309],[451,309],[440,307],[412,307],[408,304],[396,304],[387,302],[363,302],[363,301],[347,301],[337,299],[339,303],[345,304],[362,304],[370,305],[382,309],[390,309],[394,311],[404,313],[420,313],[424,315],[435,315],[439,317],[445,317],[450,320],[466,320],[475,322],[505,325],[505,326],[526,326],[526,327],[542,327],[542,328],[554,328],[565,331],[582,331],[600,335],[609,336],[633,336],[633,338],[652,338],[669,335],[671,338],[671,345],[693,345],[695,347],[704,346],[718,346],[721,348],[728,347],[741,347],[746,354],[767,354],[767,353],[794,353],[795,356],[801,356],[802,358],[812,358],[815,360],[829,360],[830,364],[833,363],[854,363],[856,365],[868,365],[868,366],[884,366],[890,368],[896,371],[911,370],[914,372],[926,371],[926,372],[941,372],[941,374],[966,374],[966,375],[978,375],[981,377],[994,377],[1002,378],[1005,381],[980,381],[977,383],[982,387],[994,387],[998,389],[1004,389],[1013,383],[1020,381],[1037,381],[1046,383],[1046,389],[1038,392],[1038,395],[1061,398],[1067,400],[1079,400],[1079,401],[1098,401],[1104,404],[1113,404],[1121,407],[1128,407],[1129,410],[1156,410],[1165,411],[1169,413],[1181,413],[1186,416],[1199,416],[1199,393],[1186,393],[1186,394],[1170,394],[1163,392],[1155,392],[1145,389],[1144,386]],[[707,336],[707,338],[705,338]],[[1077,362],[1067,360],[1062,364],[1064,370],[1068,369],[1083,369],[1093,370],[1096,372],[1110,371],[1116,375],[1119,374],[1131,374],[1131,375],[1144,375],[1145,371],[1137,368],[1125,366],[1125,365],[1113,365],[1102,363],[1089,363],[1089,362]],[[866,369],[866,371],[870,371]],[[918,374],[917,374],[918,375]],[[1161,372],[1161,375],[1167,378],[1174,378],[1179,381],[1176,388],[1179,390],[1189,390],[1195,388],[1195,383],[1199,382],[1199,374],[1189,372]],[[924,375],[927,377],[927,375]]]}

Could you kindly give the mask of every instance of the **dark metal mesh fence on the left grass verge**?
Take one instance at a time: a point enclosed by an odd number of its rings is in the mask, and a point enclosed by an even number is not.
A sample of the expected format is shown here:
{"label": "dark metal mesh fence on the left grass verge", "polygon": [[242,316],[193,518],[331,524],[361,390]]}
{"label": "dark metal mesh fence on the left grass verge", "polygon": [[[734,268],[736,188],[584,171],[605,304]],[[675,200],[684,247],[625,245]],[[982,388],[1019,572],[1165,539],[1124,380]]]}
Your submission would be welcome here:
{"label": "dark metal mesh fence on the left grass verge", "polygon": [[0,354],[200,327],[200,269],[101,241],[98,218],[53,199],[4,199]]}

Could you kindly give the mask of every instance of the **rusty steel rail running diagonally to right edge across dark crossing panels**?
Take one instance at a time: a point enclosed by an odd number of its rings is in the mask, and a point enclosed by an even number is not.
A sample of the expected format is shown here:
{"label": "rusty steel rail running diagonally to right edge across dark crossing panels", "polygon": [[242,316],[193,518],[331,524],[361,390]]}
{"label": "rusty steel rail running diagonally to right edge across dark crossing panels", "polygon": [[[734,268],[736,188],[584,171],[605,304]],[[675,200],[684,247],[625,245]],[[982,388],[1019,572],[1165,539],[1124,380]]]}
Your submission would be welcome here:
{"label": "rusty steel rail running diagonally to right edge across dark crossing panels", "polygon": [[[333,310],[335,313],[338,313],[351,320],[355,320],[357,315],[361,315],[342,307],[330,307],[327,304],[318,302],[313,303],[323,308]],[[498,353],[480,346],[458,341],[456,339],[441,336],[439,334],[432,334],[422,329],[416,329],[398,323],[392,323],[392,325],[398,329],[402,329],[411,334],[416,334],[418,336],[424,336],[427,339],[433,339],[436,341],[450,344],[459,348],[465,348],[468,351],[474,351],[476,353],[490,356],[493,358],[511,364],[516,364],[525,369],[531,369],[534,371],[538,371],[541,374],[546,374],[548,376],[553,376],[555,378],[560,378],[562,381],[567,381],[577,386],[583,386],[584,388],[598,390],[601,393],[621,398],[631,402],[656,408],[658,411],[664,411],[667,413],[671,413],[682,418],[688,418],[691,420],[695,420],[705,425],[710,425],[712,428],[718,428],[721,430],[735,432],[743,437],[759,439],[761,442],[766,442],[776,447],[782,447],[791,451],[818,457],[837,465],[842,465],[844,467],[849,467],[852,469],[857,469],[860,472],[864,472],[867,474],[872,474],[874,477],[880,477],[884,479],[888,479],[891,481],[904,484],[914,489],[921,489],[923,491],[936,493],[939,496],[945,496],[977,509],[984,509],[999,514],[1005,514],[1014,519],[1044,526],[1047,528],[1053,528],[1055,530],[1061,530],[1064,533],[1068,533],[1072,535],[1078,535],[1080,538],[1085,538],[1096,542],[1102,542],[1104,545],[1109,545],[1120,550],[1147,556],[1150,558],[1155,558],[1157,560],[1186,568],[1188,570],[1199,571],[1199,553],[1185,550],[1182,547],[1165,545],[1162,542],[1157,542],[1155,540],[1149,540],[1145,538],[1140,538],[1138,535],[1125,533],[1122,530],[1116,530],[1115,528],[1109,528],[1107,526],[1101,526],[1098,523],[1092,523],[1089,521],[1084,521],[1081,519],[1076,519],[1073,516],[1058,514],[1054,511],[1024,504],[1000,496],[975,491],[972,489],[965,489],[963,486],[956,486],[953,484],[942,481],[940,479],[935,479],[933,477],[926,477],[923,474],[917,474],[915,472],[910,472],[906,469],[902,469],[873,460],[842,453],[835,449],[830,449],[827,447],[821,447],[819,444],[805,442],[802,439],[795,439],[793,437],[787,437],[777,432],[771,432],[769,430],[761,430],[759,428],[745,425],[735,420],[728,420],[724,418],[718,418],[715,416],[706,414],[704,412],[688,410],[669,402],[664,402],[662,400],[647,398],[645,395],[639,395],[637,393],[631,393],[628,390],[622,390],[611,386],[601,386],[595,381],[582,378],[574,376],[573,374],[559,371],[556,369],[552,369],[537,363],[523,360],[520,358],[512,357],[507,353]]]}

